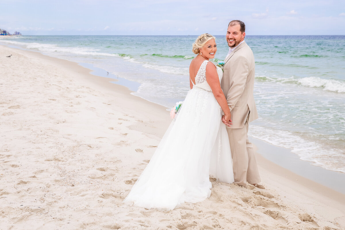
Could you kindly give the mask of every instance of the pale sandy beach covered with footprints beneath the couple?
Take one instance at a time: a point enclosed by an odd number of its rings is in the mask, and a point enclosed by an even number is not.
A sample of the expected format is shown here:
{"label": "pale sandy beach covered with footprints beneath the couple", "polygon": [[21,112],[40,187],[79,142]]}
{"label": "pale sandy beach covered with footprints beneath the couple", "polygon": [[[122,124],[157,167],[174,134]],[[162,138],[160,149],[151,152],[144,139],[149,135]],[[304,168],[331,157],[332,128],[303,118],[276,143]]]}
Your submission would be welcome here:
{"label": "pale sandy beach covered with footprints beneath the couple", "polygon": [[169,126],[166,108],[74,62],[0,54],[0,230],[345,229],[344,194],[260,154],[265,190],[210,178],[210,198],[169,212],[122,203]]}

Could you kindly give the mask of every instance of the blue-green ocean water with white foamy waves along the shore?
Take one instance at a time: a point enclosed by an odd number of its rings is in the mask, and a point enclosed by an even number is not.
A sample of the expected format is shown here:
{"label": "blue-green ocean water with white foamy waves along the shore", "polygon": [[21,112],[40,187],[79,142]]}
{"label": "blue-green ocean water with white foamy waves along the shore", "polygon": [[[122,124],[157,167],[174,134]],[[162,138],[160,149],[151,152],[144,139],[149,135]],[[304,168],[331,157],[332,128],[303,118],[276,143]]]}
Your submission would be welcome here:
{"label": "blue-green ocean water with white foamy waves along the shore", "polygon": [[[197,36],[17,36],[0,44],[88,63],[139,83],[133,94],[172,107],[189,90]],[[345,172],[345,36],[246,36],[259,119],[249,135]],[[214,62],[228,46],[216,36]]]}

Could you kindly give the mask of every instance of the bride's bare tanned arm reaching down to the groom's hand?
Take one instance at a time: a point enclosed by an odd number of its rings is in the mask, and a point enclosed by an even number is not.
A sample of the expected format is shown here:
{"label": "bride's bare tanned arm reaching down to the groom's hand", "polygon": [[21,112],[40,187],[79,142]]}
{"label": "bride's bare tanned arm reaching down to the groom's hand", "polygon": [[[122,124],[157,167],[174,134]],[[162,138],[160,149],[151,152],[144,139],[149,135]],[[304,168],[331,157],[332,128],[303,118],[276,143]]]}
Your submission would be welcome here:
{"label": "bride's bare tanned arm reaching down to the groom's hand", "polygon": [[211,87],[213,95],[215,96],[220,108],[224,112],[225,120],[231,122],[231,113],[224,96],[223,90],[220,88],[220,82],[216,66],[212,62],[208,62],[206,66],[206,81]]}

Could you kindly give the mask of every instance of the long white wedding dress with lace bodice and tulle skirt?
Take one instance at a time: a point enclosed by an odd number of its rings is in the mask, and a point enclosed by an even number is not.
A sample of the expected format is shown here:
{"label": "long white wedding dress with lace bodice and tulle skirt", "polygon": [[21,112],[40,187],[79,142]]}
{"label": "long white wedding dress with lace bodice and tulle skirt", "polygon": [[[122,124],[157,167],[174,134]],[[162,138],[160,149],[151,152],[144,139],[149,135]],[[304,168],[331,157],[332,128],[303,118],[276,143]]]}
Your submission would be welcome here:
{"label": "long white wedding dress with lace bodice and tulle skirt", "polygon": [[[205,60],[195,85],[172,120],[149,164],[124,202],[169,211],[211,194],[209,174],[234,182],[233,163],[221,109],[206,81]],[[223,71],[217,67],[219,81]]]}

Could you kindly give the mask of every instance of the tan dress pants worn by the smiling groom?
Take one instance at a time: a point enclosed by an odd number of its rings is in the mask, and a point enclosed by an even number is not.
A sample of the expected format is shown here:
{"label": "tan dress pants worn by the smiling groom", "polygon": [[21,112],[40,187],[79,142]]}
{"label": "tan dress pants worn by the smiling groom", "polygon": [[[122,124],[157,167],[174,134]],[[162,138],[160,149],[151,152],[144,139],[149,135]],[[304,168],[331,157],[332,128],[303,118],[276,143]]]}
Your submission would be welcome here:
{"label": "tan dress pants worn by the smiling groom", "polygon": [[248,126],[247,121],[243,128],[226,129],[233,158],[234,183],[245,188],[247,187],[247,181],[250,184],[261,182],[253,146],[248,140]]}

